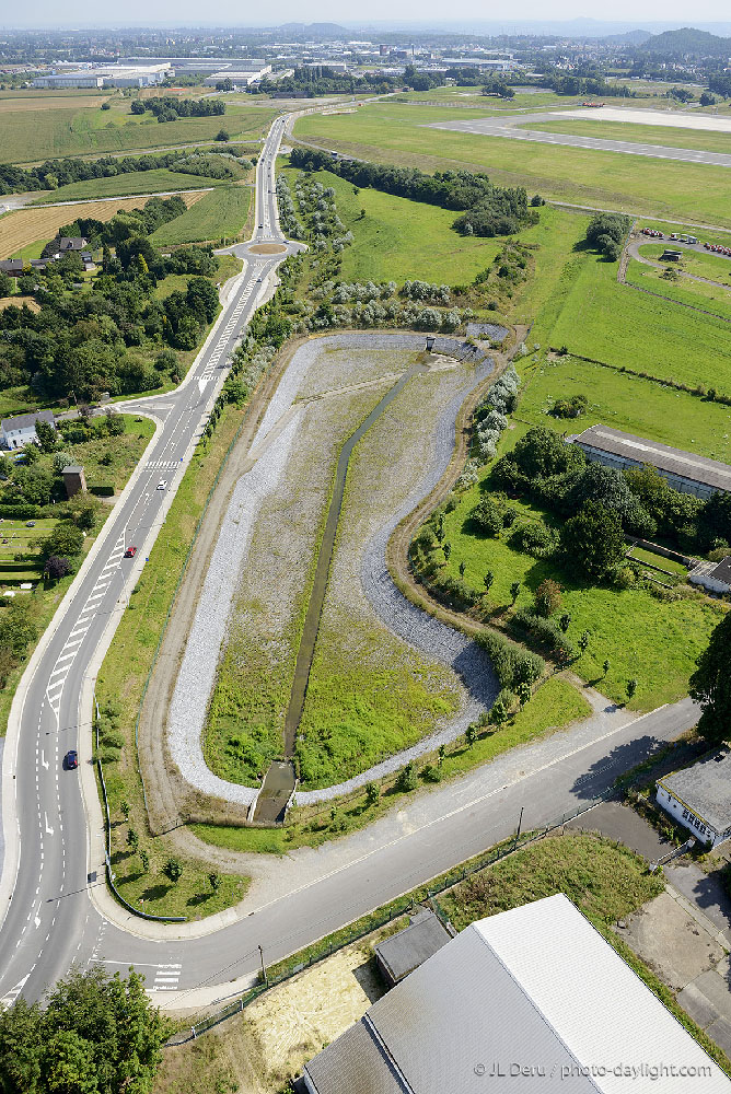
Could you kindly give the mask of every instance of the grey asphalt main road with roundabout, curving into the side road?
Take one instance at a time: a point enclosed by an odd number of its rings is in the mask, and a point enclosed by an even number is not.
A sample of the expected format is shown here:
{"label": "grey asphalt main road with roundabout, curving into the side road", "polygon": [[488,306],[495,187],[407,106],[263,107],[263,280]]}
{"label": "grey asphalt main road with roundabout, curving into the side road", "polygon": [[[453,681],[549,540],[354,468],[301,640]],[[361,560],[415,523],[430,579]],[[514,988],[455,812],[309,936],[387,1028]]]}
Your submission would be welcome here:
{"label": "grey asphalt main road with roundabout, curving into the side road", "polygon": [[[257,167],[253,243],[282,241],[272,184],[287,124],[275,120]],[[246,245],[235,249],[246,252]],[[93,787],[84,766],[91,757],[89,679],[190,458],[257,290],[264,291],[283,256],[248,257],[185,383],[169,395],[127,404],[153,415],[158,432],[42,639],[13,705],[2,770],[0,1002],[20,993],[42,997],[74,961],[100,961],[111,970],[135,964],[150,988],[171,993],[220,985],[225,994],[228,981],[255,973],[259,944],[267,962],[292,953],[508,836],[521,806],[525,827],[576,808],[654,743],[697,721],[689,700],[630,723],[610,710],[591,726],[508,753],[356,837],[267,862],[260,868],[266,877],[255,878],[243,907],[217,917],[216,933],[204,933],[213,927],[206,922],[152,928],[108,898],[94,899],[104,881],[88,871],[103,857],[102,837],[85,815],[78,778]],[[161,480],[167,485],[158,490]],[[123,558],[129,543],[139,548],[135,560]],[[82,771],[62,770],[70,747],[79,749]]]}

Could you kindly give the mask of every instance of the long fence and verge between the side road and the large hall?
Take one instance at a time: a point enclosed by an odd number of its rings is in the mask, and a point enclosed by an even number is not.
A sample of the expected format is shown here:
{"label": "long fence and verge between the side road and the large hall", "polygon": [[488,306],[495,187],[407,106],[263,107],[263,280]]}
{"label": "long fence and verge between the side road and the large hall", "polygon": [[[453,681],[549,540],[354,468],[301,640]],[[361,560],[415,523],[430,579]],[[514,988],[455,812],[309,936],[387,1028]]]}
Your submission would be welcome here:
{"label": "long fence and verge between the side road and the large hall", "polygon": [[[525,847],[537,839],[543,839],[543,837],[549,831],[554,831],[555,829],[562,827],[570,821],[576,819],[576,817],[593,810],[596,805],[601,805],[602,802],[613,798],[615,793],[616,791],[614,789],[607,790],[599,798],[580,805],[570,813],[562,814],[560,817],[557,817],[544,827],[526,831],[522,837],[517,835],[512,839],[509,839],[491,850],[486,851],[467,865],[448,871],[448,873],[432,882],[430,886],[427,886],[426,888],[419,887],[415,892],[422,893],[425,894],[427,900],[432,900],[440,893],[444,893],[446,889],[452,888],[454,885],[465,881],[465,878],[478,873],[480,870],[491,866],[494,863],[500,861],[500,859],[504,859],[507,856],[512,854],[519,848]],[[421,899],[423,899],[423,897]],[[165,1047],[183,1045],[186,1041],[194,1040],[201,1034],[212,1029],[213,1026],[220,1025],[221,1022],[225,1022],[227,1019],[233,1017],[235,1014],[241,1014],[241,1012],[245,1010],[250,1003],[255,1002],[259,996],[264,994],[264,992],[268,991],[270,988],[274,988],[279,984],[283,984],[286,980],[289,980],[299,973],[302,973],[305,968],[316,965],[318,962],[324,961],[332,954],[345,948],[345,946],[352,945],[353,942],[358,942],[360,939],[366,938],[373,931],[378,931],[382,927],[386,927],[388,923],[392,923],[395,919],[399,919],[414,908],[415,903],[416,897],[411,893],[397,897],[384,908],[376,909],[373,913],[364,916],[350,927],[345,928],[343,931],[338,931],[337,934],[329,935],[321,942],[315,942],[305,951],[300,951],[300,953],[294,954],[291,958],[286,958],[283,962],[278,963],[270,971],[265,974],[265,984],[257,984],[253,988],[250,988],[248,991],[245,991],[239,997],[239,999],[232,1000],[232,1002],[228,1003],[220,1011],[208,1015],[200,1022],[196,1023],[196,1025],[190,1026],[189,1032],[175,1034],[169,1041],[166,1041]],[[439,907],[437,910],[438,913],[441,911]]]}

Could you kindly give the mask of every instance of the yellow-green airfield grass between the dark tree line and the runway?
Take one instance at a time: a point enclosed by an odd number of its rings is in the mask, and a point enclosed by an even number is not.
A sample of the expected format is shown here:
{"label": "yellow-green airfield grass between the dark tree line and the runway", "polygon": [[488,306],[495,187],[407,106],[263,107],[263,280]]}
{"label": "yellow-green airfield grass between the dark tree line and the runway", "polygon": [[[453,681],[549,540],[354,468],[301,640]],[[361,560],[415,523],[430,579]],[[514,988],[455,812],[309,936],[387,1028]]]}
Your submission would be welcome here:
{"label": "yellow-green airfield grass between the dark tree line and the runway", "polygon": [[[294,136],[380,163],[486,171],[496,183],[524,186],[552,200],[731,226],[724,167],[538,143],[526,148],[510,138],[426,128],[449,120],[449,113],[384,102],[352,115],[301,118]],[[476,112],[454,113],[474,120]]]}

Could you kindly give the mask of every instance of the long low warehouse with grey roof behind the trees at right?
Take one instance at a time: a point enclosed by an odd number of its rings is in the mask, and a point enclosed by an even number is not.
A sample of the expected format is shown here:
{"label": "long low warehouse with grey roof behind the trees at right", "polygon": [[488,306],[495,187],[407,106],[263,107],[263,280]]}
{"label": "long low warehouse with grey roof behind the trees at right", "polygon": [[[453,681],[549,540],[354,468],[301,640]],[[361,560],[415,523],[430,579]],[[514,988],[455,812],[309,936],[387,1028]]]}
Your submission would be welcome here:
{"label": "long low warehouse with grey roof behind the trees at right", "polygon": [[710,498],[713,493],[731,493],[731,467],[718,459],[698,456],[695,452],[671,449],[659,441],[633,437],[608,426],[590,426],[583,433],[568,437],[578,444],[588,459],[619,470],[625,467],[654,467],[670,486],[696,498]]}

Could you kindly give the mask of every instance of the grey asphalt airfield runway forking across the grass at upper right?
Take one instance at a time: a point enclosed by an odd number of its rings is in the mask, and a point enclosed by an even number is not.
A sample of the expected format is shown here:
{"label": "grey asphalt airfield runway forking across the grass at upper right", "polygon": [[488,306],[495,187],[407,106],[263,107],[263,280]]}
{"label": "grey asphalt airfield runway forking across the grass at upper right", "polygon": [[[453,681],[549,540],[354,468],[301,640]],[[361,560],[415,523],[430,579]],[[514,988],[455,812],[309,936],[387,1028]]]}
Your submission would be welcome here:
{"label": "grey asphalt airfield runway forking across the grass at upper right", "polygon": [[[600,114],[601,112],[596,112]],[[576,114],[572,114],[576,117]],[[425,128],[449,129],[453,132],[476,133],[484,137],[508,137],[511,140],[537,141],[542,144],[562,144],[569,148],[589,148],[603,152],[624,152],[627,155],[648,155],[655,160],[680,160],[683,163],[707,163],[717,167],[731,167],[731,155],[723,152],[704,152],[689,148],[668,148],[638,141],[605,140],[601,137],[577,137],[570,133],[542,132],[521,128],[531,121],[561,121],[564,113],[524,114],[521,117],[476,118],[474,121],[431,121]],[[627,120],[623,118],[623,120]]]}

